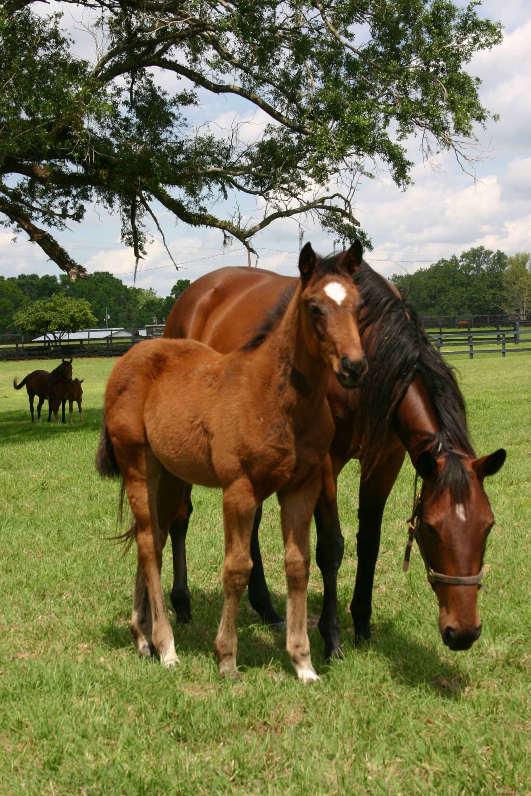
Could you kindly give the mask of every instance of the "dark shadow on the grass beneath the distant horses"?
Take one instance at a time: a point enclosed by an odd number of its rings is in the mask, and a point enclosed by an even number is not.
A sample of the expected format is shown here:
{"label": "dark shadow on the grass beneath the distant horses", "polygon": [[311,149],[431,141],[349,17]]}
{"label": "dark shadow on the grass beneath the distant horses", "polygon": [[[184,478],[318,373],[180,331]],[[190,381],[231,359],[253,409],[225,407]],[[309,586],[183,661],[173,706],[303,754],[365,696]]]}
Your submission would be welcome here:
{"label": "dark shadow on the grass beneath the distant horses", "polygon": [[59,412],[59,425],[55,423],[52,416],[48,423],[48,403],[41,412],[41,423],[37,423],[37,404],[35,404],[35,423],[31,422],[29,408],[25,412],[0,412],[0,445],[12,443],[25,443],[36,441],[43,442],[50,439],[50,435],[61,433],[83,434],[88,431],[100,431],[101,409],[84,409],[83,423],[80,423],[77,404],[74,404],[72,415],[72,425],[68,423],[68,404],[66,406],[66,423],[61,423],[61,411]]}

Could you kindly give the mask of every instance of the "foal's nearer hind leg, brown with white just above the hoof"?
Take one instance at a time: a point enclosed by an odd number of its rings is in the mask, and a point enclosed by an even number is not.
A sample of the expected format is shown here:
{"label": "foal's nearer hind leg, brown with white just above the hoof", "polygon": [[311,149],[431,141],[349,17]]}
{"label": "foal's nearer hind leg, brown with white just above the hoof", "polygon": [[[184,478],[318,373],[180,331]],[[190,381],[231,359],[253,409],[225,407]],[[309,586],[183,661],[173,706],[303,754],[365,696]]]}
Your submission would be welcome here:
{"label": "foal's nearer hind leg, brown with white just above the hoof", "polygon": [[[152,452],[144,447],[123,447],[116,451],[122,471],[127,496],[136,521],[136,544],[138,548],[138,568],[144,578],[150,603],[152,618],[152,642],[154,649],[166,666],[178,662],[175,653],[174,634],[166,616],[164,596],[160,582],[162,563],[161,533],[157,518],[157,487],[160,478],[160,465]],[[145,595],[142,576],[137,579],[135,588],[136,607]],[[142,629],[142,628],[141,628]],[[135,633],[135,628],[132,628]]]}

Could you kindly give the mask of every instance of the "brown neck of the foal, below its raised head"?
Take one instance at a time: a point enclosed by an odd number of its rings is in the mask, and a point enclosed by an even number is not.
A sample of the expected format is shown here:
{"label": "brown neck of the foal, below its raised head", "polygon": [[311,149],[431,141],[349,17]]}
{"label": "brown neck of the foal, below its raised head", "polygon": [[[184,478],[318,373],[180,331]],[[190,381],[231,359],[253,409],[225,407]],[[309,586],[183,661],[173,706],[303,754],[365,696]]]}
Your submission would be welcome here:
{"label": "brown neck of the foal, below its raised head", "polygon": [[307,406],[324,400],[330,376],[328,365],[313,357],[306,345],[300,312],[302,289],[299,282],[283,318],[257,352],[270,380],[268,386],[288,410],[301,401]]}

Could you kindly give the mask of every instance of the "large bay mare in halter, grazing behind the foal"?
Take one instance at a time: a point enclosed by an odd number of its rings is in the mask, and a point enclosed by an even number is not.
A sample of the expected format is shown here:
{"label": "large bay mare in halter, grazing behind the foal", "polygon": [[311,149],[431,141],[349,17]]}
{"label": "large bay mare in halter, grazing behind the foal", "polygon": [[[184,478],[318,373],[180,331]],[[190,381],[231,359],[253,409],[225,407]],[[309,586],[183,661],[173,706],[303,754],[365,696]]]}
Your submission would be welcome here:
{"label": "large bay mare in halter, grazing behind the foal", "polygon": [[[439,630],[452,650],[478,638],[478,579],[486,536],[494,517],[483,478],[505,461],[503,450],[475,458],[463,396],[451,368],[424,334],[412,306],[365,261],[353,279],[363,301],[361,341],[369,371],[361,389],[346,391],[331,379],[327,399],[334,418],[330,447],[334,487],[351,458],[361,462],[357,575],[350,611],[356,642],[369,639],[374,570],[385,502],[406,451],[422,478],[416,507],[416,538],[424,560],[440,577],[431,583],[439,602]],[[221,268],[187,287],[166,322],[167,338],[191,338],[228,352],[248,339],[264,313],[291,284],[285,276],[254,268]],[[170,526],[174,553],[171,599],[178,622],[191,618],[186,580],[185,537],[192,511],[190,490]],[[337,607],[343,537],[335,489],[323,490],[314,511],[316,560],[324,595],[319,630],[326,657],[341,653]],[[249,600],[272,625],[281,618],[271,605],[260,556],[258,527],[252,534]],[[429,574],[429,573],[428,573]],[[430,575],[430,577],[432,577]]]}

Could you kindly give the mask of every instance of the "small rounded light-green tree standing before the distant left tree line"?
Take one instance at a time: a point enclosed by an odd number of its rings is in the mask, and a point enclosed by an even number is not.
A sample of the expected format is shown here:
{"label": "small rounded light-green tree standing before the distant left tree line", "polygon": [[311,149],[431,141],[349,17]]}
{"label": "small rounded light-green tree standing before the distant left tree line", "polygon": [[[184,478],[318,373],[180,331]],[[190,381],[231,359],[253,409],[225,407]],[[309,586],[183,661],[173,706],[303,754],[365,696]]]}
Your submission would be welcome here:
{"label": "small rounded light-green tree standing before the distant left tree line", "polygon": [[18,310],[14,315],[14,323],[22,334],[48,333],[57,340],[67,332],[94,326],[96,317],[84,298],[56,293],[49,298],[39,298],[24,310]]}

